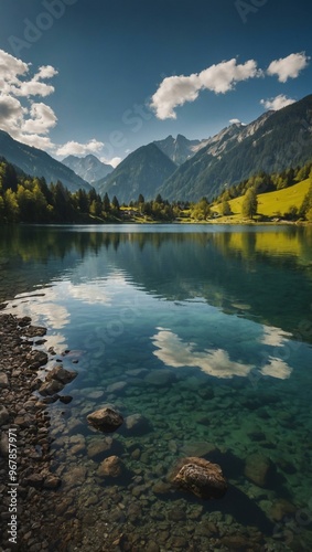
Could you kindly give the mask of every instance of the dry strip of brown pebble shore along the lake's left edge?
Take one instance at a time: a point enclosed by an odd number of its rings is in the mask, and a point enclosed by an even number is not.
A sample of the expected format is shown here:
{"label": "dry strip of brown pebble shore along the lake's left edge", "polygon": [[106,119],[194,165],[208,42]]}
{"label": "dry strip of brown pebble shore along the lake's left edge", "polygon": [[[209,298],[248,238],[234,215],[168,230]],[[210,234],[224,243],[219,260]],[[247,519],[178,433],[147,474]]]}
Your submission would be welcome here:
{"label": "dry strip of brown pebble shore along the lake's left edge", "polygon": [[51,471],[49,401],[34,394],[49,361],[34,346],[45,332],[28,317],[0,315],[1,552],[52,550],[58,531],[51,516],[61,479]]}

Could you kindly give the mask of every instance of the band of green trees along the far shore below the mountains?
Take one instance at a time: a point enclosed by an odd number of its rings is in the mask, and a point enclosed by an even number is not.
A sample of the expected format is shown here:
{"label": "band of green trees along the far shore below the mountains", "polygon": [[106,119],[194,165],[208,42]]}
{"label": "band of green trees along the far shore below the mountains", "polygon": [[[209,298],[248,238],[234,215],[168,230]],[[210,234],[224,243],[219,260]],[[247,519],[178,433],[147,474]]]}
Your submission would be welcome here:
{"label": "band of green trees along the far shore below the mountains", "polygon": [[222,215],[230,215],[229,201],[240,195],[244,195],[243,216],[252,219],[257,214],[259,193],[288,188],[309,177],[311,185],[302,205],[299,209],[290,208],[289,213],[283,216],[312,221],[312,162],[277,174],[260,172],[226,189],[212,203],[206,198],[197,202],[170,203],[160,194],[154,200],[146,201],[139,194],[137,201],[120,206],[116,195],[110,201],[107,193],[101,198],[94,188],[71,192],[60,181],[47,185],[44,178],[19,173],[11,163],[0,158],[0,223],[103,223],[129,220],[172,222],[183,219],[206,221],[218,216],[217,204],[220,205]]}

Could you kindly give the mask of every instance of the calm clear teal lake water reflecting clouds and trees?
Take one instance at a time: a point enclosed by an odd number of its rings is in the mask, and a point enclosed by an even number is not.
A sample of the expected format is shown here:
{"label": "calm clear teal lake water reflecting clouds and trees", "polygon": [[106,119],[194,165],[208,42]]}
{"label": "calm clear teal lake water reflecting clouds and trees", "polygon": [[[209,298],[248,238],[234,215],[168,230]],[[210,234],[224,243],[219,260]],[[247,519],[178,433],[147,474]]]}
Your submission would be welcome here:
{"label": "calm clear teal lake water reflecting clouds and trees", "polygon": [[[49,406],[69,550],[312,550],[311,226],[2,229],[0,269],[7,310],[78,372]],[[127,422],[109,436],[86,421],[105,404]],[[222,466],[224,499],[168,488],[184,456]]]}

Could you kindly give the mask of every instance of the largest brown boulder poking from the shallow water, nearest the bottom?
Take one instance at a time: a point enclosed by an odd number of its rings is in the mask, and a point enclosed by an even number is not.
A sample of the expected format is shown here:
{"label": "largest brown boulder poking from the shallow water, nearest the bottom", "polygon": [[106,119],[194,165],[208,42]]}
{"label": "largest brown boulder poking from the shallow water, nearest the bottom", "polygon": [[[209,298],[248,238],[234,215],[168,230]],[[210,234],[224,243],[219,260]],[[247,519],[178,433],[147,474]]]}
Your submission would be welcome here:
{"label": "largest brown boulder poking from the shallow water, nearest the bottom", "polygon": [[182,458],[171,479],[176,487],[205,500],[223,498],[227,490],[220,466],[204,458]]}

